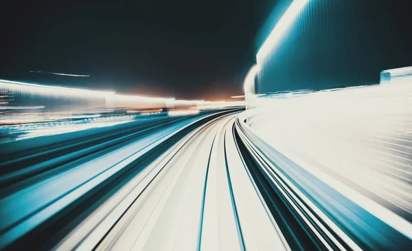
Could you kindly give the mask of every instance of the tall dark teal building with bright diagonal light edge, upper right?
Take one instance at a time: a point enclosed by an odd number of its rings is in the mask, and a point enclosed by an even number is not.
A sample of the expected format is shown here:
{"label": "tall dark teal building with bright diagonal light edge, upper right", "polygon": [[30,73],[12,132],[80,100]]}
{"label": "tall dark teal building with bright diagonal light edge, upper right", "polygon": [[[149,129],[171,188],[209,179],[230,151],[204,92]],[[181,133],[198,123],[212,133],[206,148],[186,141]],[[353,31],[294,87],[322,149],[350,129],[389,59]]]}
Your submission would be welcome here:
{"label": "tall dark teal building with bright diagonal light edge, upper right", "polygon": [[411,21],[407,1],[282,0],[262,32],[255,92],[379,83],[412,65]]}

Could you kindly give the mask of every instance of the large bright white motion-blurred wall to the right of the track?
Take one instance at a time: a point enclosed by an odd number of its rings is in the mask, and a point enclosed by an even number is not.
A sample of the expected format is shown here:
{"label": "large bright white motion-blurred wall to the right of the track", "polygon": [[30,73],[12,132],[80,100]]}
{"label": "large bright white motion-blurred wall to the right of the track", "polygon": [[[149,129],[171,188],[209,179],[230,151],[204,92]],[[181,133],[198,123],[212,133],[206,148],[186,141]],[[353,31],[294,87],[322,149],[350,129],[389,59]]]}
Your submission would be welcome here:
{"label": "large bright white motion-blurred wall to the right of the track", "polygon": [[[386,174],[395,174],[393,168],[371,164],[385,154],[368,143],[376,140],[371,129],[399,133],[391,141],[402,142],[412,126],[412,85],[393,80],[392,85],[308,92],[296,98],[258,98],[248,124],[274,149],[412,239],[412,224],[396,213],[412,213],[412,187],[404,181],[411,177],[412,156],[401,158],[409,175],[396,178]],[[389,146],[385,149],[392,151]],[[390,156],[399,159],[398,154]]]}

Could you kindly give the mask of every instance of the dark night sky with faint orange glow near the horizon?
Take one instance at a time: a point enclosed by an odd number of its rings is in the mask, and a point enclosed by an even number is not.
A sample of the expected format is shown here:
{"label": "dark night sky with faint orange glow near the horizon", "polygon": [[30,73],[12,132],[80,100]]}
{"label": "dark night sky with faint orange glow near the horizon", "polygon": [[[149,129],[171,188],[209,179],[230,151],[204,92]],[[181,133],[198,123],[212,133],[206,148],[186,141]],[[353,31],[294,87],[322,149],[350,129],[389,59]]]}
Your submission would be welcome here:
{"label": "dark night sky with faint orange glow near the horizon", "polygon": [[275,3],[14,1],[1,8],[0,78],[176,98],[240,95]]}

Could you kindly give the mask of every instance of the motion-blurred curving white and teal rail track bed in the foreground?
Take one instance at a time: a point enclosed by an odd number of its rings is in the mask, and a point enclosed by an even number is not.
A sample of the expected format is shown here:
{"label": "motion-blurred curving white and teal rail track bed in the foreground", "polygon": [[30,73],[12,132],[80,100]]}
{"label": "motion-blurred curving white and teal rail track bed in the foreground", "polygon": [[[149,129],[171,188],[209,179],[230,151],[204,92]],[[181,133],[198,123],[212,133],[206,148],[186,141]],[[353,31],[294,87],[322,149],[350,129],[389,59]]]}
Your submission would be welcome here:
{"label": "motion-blurred curving white and teal rail track bed in the foreground", "polygon": [[266,144],[246,119],[231,109],[32,140],[35,149],[10,144],[1,155],[1,248],[412,245],[409,221],[376,217]]}

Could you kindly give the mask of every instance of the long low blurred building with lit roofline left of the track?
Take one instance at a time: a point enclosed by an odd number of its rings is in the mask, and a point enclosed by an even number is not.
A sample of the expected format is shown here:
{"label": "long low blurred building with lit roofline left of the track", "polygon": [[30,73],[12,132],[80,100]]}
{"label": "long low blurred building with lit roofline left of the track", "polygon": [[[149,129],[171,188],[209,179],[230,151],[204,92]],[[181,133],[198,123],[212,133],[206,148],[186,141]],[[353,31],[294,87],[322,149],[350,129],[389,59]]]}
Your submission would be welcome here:
{"label": "long low blurred building with lit roofline left of the track", "polygon": [[[203,100],[176,100],[174,98],[149,98],[115,94],[111,91],[93,91],[47,85],[35,85],[0,80],[0,114],[34,118],[34,116],[66,116],[113,113],[157,113],[159,111],[204,108],[210,105]],[[214,107],[229,103],[213,102]],[[233,104],[231,104],[233,105]],[[9,123],[3,116],[0,123]],[[55,118],[55,117],[54,117]],[[43,120],[41,118],[40,120]]]}

